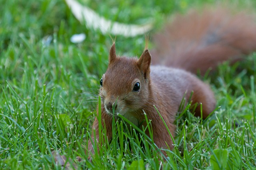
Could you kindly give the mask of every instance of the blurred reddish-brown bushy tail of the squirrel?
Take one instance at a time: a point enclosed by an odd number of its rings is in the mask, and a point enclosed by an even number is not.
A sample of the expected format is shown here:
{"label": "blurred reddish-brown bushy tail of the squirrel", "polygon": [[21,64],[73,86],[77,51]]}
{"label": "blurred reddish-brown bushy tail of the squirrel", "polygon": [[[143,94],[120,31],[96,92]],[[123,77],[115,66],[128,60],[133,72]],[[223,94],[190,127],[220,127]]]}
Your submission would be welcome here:
{"label": "blurred reddish-brown bushy tail of the squirrel", "polygon": [[256,50],[255,15],[227,8],[177,15],[153,39],[152,63],[204,74],[218,63]]}

